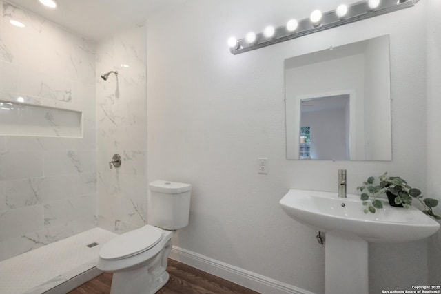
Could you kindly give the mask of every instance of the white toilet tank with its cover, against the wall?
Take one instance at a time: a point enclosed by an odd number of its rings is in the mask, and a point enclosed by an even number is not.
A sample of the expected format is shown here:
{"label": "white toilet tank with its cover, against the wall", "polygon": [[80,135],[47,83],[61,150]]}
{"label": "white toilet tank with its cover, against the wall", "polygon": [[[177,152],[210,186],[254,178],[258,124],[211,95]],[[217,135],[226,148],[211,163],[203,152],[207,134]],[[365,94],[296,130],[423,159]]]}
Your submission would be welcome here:
{"label": "white toilet tank with its cover, against the wall", "polygon": [[192,185],[183,182],[155,180],[150,182],[149,224],[166,230],[187,227]]}

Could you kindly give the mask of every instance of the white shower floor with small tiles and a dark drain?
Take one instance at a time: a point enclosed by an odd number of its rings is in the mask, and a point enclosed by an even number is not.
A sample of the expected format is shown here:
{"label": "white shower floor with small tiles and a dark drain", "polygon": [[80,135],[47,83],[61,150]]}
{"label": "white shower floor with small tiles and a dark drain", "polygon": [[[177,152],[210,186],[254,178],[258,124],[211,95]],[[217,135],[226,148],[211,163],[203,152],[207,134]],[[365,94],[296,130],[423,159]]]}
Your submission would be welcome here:
{"label": "white shower floor with small tiles and a dark drain", "polygon": [[[0,262],[0,293],[37,294],[96,266],[101,246],[115,233],[90,229]],[[88,247],[88,244],[98,243]]]}

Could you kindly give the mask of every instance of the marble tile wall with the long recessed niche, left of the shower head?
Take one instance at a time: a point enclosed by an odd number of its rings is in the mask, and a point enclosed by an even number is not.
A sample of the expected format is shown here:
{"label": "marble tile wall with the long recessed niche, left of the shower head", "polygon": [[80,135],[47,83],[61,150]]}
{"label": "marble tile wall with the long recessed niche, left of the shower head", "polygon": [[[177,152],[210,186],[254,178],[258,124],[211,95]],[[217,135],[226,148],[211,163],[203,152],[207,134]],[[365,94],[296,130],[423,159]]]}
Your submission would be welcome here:
{"label": "marble tile wall with the long recessed niche, left of the shower head", "polygon": [[4,260],[96,227],[96,56],[81,36],[4,0],[0,9],[0,100],[83,112],[81,138],[0,135]]}

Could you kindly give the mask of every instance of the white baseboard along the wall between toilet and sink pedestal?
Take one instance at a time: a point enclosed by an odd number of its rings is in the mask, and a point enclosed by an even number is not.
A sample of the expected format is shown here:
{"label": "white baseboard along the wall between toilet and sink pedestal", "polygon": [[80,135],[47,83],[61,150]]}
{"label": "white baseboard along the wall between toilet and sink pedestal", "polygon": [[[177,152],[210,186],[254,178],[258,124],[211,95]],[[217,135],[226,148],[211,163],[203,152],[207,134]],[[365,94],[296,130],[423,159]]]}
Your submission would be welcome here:
{"label": "white baseboard along the wall between toilet and sink pedestal", "polygon": [[240,269],[207,256],[173,246],[170,258],[264,294],[314,294],[302,288]]}

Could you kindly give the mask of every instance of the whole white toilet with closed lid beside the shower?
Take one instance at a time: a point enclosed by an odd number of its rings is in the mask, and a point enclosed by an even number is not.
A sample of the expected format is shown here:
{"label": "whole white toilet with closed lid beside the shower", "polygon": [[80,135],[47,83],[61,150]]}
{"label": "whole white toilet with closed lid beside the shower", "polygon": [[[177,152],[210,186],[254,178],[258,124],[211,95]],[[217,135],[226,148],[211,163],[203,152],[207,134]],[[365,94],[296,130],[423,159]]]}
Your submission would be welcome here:
{"label": "whole white toilet with closed lid beside the shower", "polygon": [[150,182],[149,224],[105,243],[96,267],[114,273],[111,294],[153,294],[169,279],[167,258],[172,235],[187,227],[192,185],[156,180]]}

